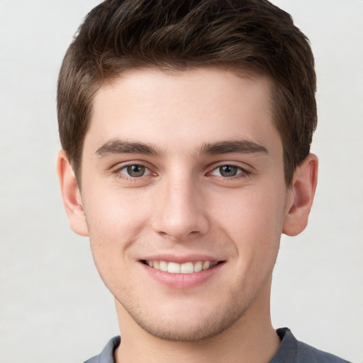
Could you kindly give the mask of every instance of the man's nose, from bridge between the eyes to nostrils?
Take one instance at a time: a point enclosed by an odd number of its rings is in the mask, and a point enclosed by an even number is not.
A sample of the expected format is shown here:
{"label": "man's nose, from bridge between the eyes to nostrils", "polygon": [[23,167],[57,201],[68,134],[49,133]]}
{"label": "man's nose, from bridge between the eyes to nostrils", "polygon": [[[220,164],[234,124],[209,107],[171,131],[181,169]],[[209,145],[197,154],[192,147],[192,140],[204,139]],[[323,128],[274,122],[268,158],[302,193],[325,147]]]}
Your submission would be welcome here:
{"label": "man's nose, from bridge between the eyes to nostrils", "polygon": [[152,228],[176,241],[203,235],[209,221],[203,193],[191,177],[170,178],[162,183],[155,201]]}

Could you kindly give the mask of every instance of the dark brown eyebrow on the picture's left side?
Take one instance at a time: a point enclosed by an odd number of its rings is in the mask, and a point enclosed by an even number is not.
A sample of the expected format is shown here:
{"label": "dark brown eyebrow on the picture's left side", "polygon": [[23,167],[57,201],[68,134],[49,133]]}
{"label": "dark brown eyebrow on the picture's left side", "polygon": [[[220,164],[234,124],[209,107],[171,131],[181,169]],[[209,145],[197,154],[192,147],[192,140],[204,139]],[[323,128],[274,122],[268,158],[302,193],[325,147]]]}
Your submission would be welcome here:
{"label": "dark brown eyebrow on the picture's left side", "polygon": [[96,150],[96,155],[140,154],[160,156],[162,152],[157,147],[144,143],[133,143],[125,140],[109,140]]}

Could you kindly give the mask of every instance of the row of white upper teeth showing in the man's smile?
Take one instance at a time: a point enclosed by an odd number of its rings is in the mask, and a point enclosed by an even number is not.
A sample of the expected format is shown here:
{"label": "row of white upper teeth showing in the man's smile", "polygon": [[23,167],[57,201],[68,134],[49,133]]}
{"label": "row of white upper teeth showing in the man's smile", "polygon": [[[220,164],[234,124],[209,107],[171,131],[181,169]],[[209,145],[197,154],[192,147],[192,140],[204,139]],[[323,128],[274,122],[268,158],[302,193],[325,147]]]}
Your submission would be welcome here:
{"label": "row of white upper teeth showing in the man's smile", "polygon": [[153,269],[158,269],[162,272],[169,272],[170,274],[193,274],[194,272],[211,269],[224,261],[196,261],[178,264],[177,262],[151,261],[144,259],[141,262]]}

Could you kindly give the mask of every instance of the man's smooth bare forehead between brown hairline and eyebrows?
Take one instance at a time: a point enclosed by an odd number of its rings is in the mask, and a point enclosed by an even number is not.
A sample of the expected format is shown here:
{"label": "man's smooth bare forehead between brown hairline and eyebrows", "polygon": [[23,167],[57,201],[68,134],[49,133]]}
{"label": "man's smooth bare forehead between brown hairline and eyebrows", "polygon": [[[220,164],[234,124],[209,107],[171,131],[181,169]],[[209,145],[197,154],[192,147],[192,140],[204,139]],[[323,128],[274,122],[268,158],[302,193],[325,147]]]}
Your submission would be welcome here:
{"label": "man's smooth bare forehead between brown hairline and eyebrows", "polygon": [[241,138],[281,143],[272,122],[271,91],[267,77],[221,68],[131,70],[94,97],[85,147],[92,143],[96,150],[116,138],[181,152]]}

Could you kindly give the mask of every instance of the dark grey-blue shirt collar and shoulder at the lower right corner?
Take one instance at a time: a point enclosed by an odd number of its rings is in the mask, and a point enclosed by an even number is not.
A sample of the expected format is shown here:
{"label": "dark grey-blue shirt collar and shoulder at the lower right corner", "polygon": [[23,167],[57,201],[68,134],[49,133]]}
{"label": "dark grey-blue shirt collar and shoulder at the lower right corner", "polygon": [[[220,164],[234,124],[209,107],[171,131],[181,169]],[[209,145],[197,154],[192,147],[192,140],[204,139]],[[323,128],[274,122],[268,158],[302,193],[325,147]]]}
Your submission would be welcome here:
{"label": "dark grey-blue shirt collar and shoulder at the lower right corner", "polygon": [[288,328],[278,329],[277,334],[281,338],[281,345],[269,363],[349,363],[345,359],[299,342]]}

